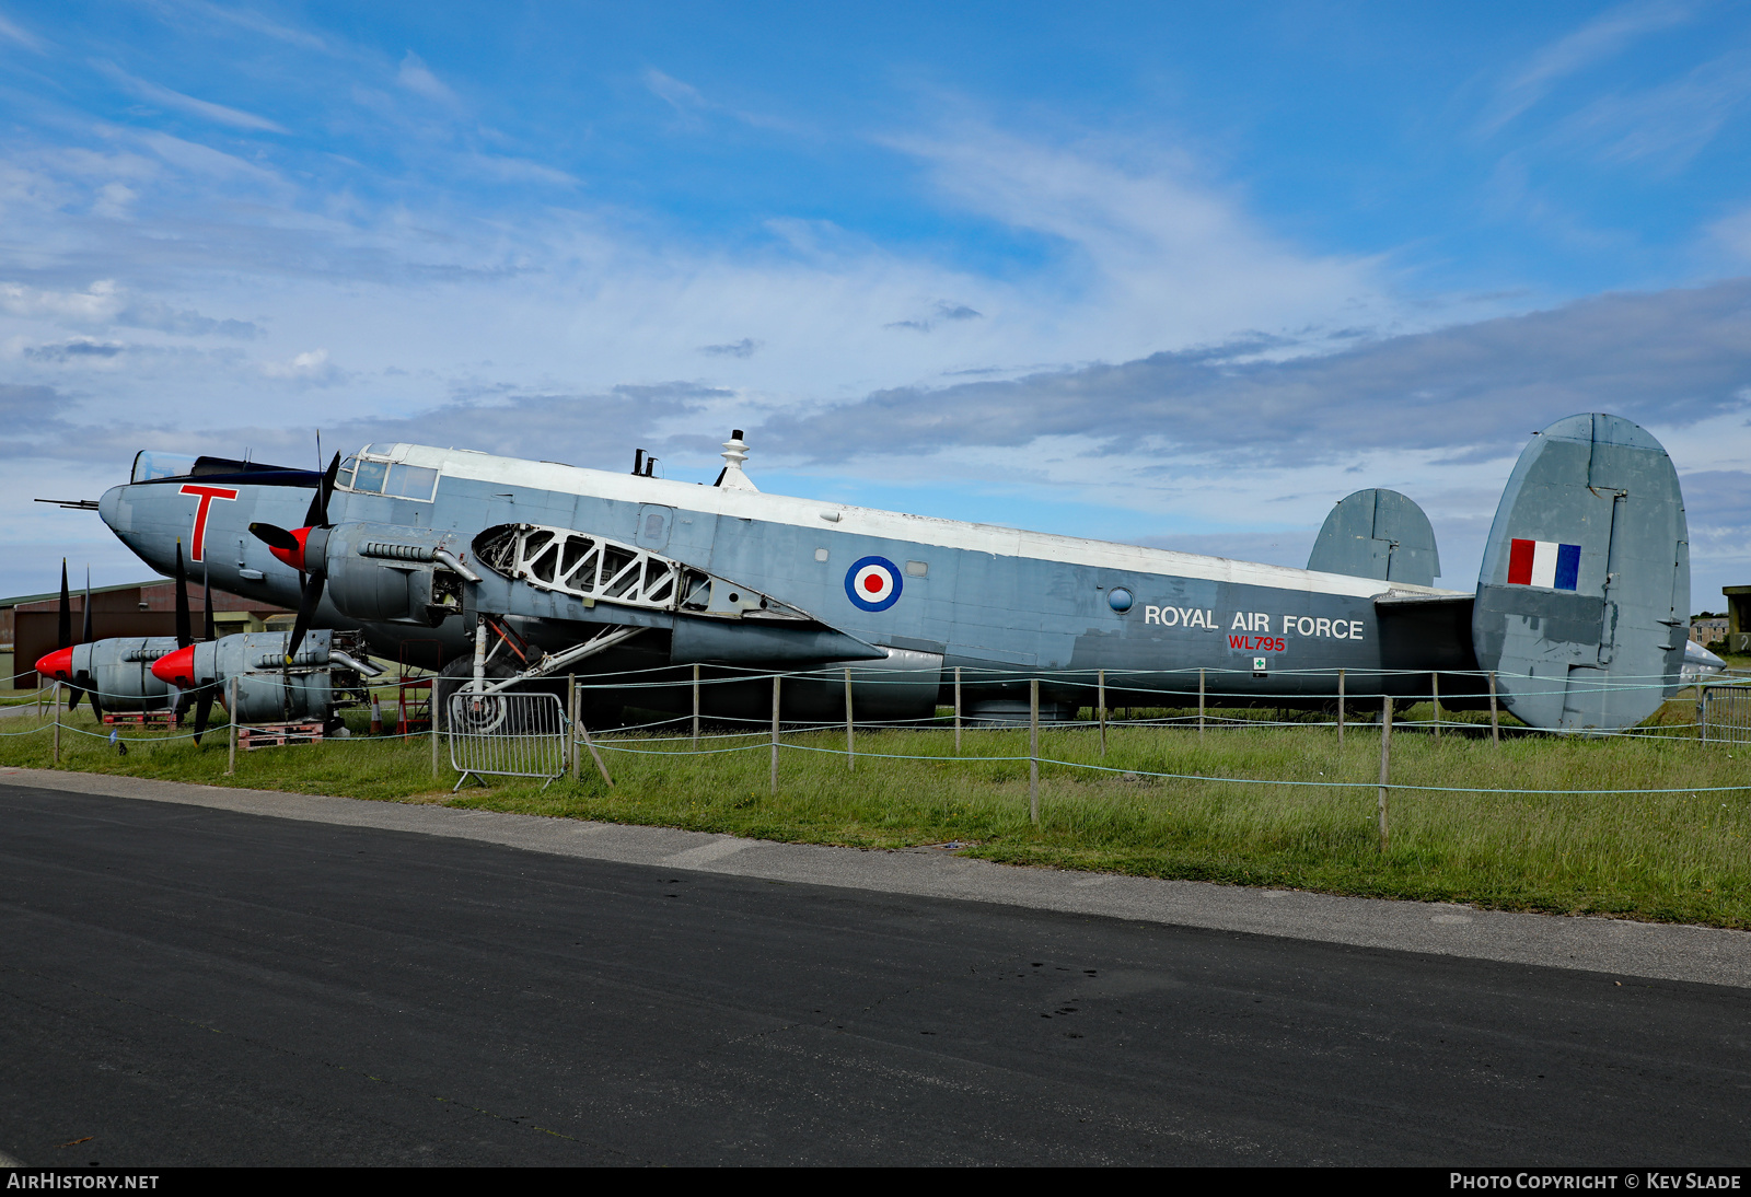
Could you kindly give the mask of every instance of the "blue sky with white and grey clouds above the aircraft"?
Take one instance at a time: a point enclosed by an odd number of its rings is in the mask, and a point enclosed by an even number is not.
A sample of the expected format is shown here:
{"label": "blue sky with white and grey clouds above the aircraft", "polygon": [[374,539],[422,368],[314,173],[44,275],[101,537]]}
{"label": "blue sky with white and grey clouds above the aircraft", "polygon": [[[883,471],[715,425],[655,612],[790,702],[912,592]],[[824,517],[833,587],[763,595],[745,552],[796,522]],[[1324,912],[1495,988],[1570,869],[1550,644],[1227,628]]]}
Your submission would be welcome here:
{"label": "blue sky with white and grey clouds above the aircraft", "polygon": [[0,0],[5,592],[137,448],[403,438],[1469,588],[1525,436],[1751,581],[1751,12]]}

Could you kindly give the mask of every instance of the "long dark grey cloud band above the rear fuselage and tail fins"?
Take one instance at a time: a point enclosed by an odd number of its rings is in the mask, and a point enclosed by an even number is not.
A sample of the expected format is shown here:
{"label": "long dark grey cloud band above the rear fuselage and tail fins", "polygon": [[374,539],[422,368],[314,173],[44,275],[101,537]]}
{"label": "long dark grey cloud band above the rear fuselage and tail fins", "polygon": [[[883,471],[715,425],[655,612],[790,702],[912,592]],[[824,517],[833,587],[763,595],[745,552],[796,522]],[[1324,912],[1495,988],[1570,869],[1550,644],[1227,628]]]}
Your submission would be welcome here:
{"label": "long dark grey cloud band above the rear fuselage and tail fins", "polygon": [[897,387],[762,429],[783,453],[842,462],[879,429],[902,453],[1080,438],[1089,452],[1285,467],[1369,452],[1448,460],[1516,452],[1574,411],[1693,424],[1751,396],[1751,280],[1613,294],[1551,312],[1261,359],[1271,338],[1117,366],[953,387]]}

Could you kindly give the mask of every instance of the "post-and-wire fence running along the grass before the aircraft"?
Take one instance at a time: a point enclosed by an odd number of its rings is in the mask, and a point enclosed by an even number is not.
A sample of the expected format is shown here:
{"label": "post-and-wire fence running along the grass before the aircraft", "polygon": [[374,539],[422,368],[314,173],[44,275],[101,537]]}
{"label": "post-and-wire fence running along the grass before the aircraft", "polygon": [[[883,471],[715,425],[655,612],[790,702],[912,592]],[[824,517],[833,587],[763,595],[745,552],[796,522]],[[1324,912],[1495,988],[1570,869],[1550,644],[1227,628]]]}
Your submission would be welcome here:
{"label": "post-and-wire fence running along the grass before the aircraft", "polygon": [[[1287,672],[1287,670],[1285,670]],[[1030,812],[1035,821],[1038,821],[1038,782],[1040,768],[1054,766],[1061,770],[1082,770],[1089,774],[1122,774],[1128,777],[1149,777],[1163,780],[1180,780],[1180,782],[1215,782],[1215,784],[1233,784],[1233,786],[1280,786],[1280,788],[1297,788],[1297,789],[1348,789],[1348,791],[1366,791],[1375,789],[1380,796],[1380,824],[1382,824],[1382,845],[1385,845],[1387,836],[1387,796],[1389,791],[1425,791],[1425,793],[1469,793],[1469,794],[1702,794],[1702,793],[1733,793],[1733,791],[1751,791],[1747,786],[1676,786],[1676,788],[1614,788],[1614,789],[1518,789],[1518,788],[1478,788],[1478,786],[1432,786],[1432,784],[1406,784],[1390,779],[1390,742],[1394,730],[1403,733],[1404,730],[1417,730],[1439,737],[1443,732],[1448,733],[1466,733],[1466,735],[1490,735],[1492,738],[1501,738],[1506,733],[1537,733],[1553,735],[1551,732],[1529,728],[1518,721],[1506,716],[1501,702],[1499,677],[1485,672],[1459,672],[1459,670],[1441,670],[1431,674],[1427,670],[1368,670],[1355,681],[1375,682],[1366,686],[1357,693],[1350,688],[1352,677],[1347,670],[1296,670],[1296,676],[1304,682],[1331,682],[1326,690],[1329,693],[1319,693],[1319,684],[1308,684],[1303,691],[1278,693],[1278,695],[1259,695],[1252,688],[1234,686],[1234,681],[1247,677],[1250,681],[1250,670],[1219,670],[1219,668],[1198,668],[1198,670],[1180,670],[1178,674],[1163,674],[1159,670],[1087,670],[1086,674],[1066,674],[1054,672],[1049,676],[1028,676],[1016,670],[975,670],[975,668],[953,668],[953,670],[932,670],[932,676],[939,676],[940,691],[953,693],[953,707],[932,704],[928,716],[912,718],[884,718],[884,719],[867,719],[860,718],[856,712],[856,695],[872,693],[870,688],[879,686],[907,686],[918,688],[919,677],[909,676],[907,670],[891,668],[858,668],[858,667],[839,667],[835,670],[791,670],[791,672],[772,672],[772,670],[735,670],[721,667],[713,670],[711,676],[704,676],[702,670],[695,668],[692,676],[676,677],[676,670],[655,668],[655,670],[636,670],[613,676],[594,676],[588,679],[567,677],[564,704],[559,695],[553,693],[522,693],[522,691],[501,691],[482,698],[471,695],[466,690],[455,693],[448,698],[448,719],[447,730],[440,732],[432,728],[420,735],[431,737],[432,746],[432,774],[438,774],[438,744],[440,735],[448,737],[450,746],[450,766],[459,774],[457,789],[468,777],[476,777],[483,780],[485,777],[539,777],[543,779],[543,788],[552,784],[555,779],[564,777],[567,772],[581,777],[581,749],[587,749],[601,772],[602,780],[613,786],[611,770],[608,768],[604,752],[618,752],[627,756],[667,756],[667,758],[706,758],[706,756],[723,756],[723,754],[741,754],[741,752],[758,752],[765,751],[770,754],[770,784],[774,793],[779,788],[781,770],[779,760],[781,752],[809,752],[809,754],[830,754],[842,756],[847,768],[854,768],[856,761],[937,761],[947,763],[956,761],[963,765],[981,765],[981,763],[1003,763],[1003,765],[1026,765],[1030,770]],[[953,674],[953,681],[942,679],[942,674]],[[1196,686],[1192,681],[1196,679]],[[1408,679],[1425,679],[1427,691],[1417,693],[1406,684]],[[557,679],[548,679],[553,684]],[[1455,705],[1462,704],[1469,707],[1462,716],[1452,709],[1443,709],[1441,684],[1448,684],[1448,702]],[[1455,682],[1464,684],[1473,682],[1469,691],[1455,693]],[[1525,686],[1527,679],[1515,679],[1520,695],[1529,693]],[[784,688],[807,684],[816,688],[816,696],[819,686],[826,682],[832,686],[842,686],[844,693],[844,718],[840,719],[797,719],[784,718]],[[1147,688],[1140,682],[1147,682]],[[1009,707],[1002,712],[1002,718],[979,718],[977,710],[968,710],[963,704],[967,691],[991,693],[993,684],[1003,688],[1003,693],[1014,693],[1021,686],[1026,686],[1028,704],[1026,704],[1026,721],[1021,721],[1021,712],[1017,707]],[[1728,672],[1714,679],[1707,679],[1691,686],[1674,688],[1667,677],[1641,677],[1641,679],[1613,679],[1604,682],[1614,693],[1646,693],[1649,690],[1658,690],[1662,698],[1674,698],[1690,695],[1695,700],[1695,719],[1693,721],[1669,721],[1656,728],[1627,728],[1618,732],[1581,732],[1569,735],[1588,735],[1588,737],[1660,737],[1660,738],[1691,738],[1700,744],[1746,744],[1751,742],[1751,677],[1742,672]],[[756,721],[748,714],[732,712],[711,712],[707,709],[713,705],[707,702],[707,695],[713,686],[737,686],[742,688],[742,704],[746,705],[746,691],[749,686],[767,688],[770,686],[770,718],[760,719],[760,732],[748,730],[748,724]],[[217,690],[217,684],[214,686]],[[1056,704],[1051,719],[1042,719],[1042,688],[1049,696],[1049,705]],[[394,684],[369,686],[371,691],[390,691]],[[581,710],[588,704],[590,696],[608,695],[616,700],[622,707],[643,709],[639,705],[641,698],[653,700],[658,696],[672,698],[678,690],[690,691],[692,710],[686,714],[664,714],[660,710],[650,712],[657,718],[643,719],[637,723],[620,723],[613,728],[608,738],[592,737],[581,718]],[[1562,688],[1550,686],[1544,693],[1560,693]],[[39,709],[47,707],[53,712],[53,723],[25,728],[19,732],[0,732],[0,735],[40,735],[53,732],[56,742],[56,760],[60,760],[60,737],[63,732],[81,737],[105,738],[119,742],[123,751],[126,751],[128,742],[165,742],[189,738],[194,732],[154,732],[142,735],[121,735],[119,730],[110,732],[88,732],[60,718],[60,695],[63,688],[56,682],[53,688],[42,688],[32,691],[30,695],[16,696],[12,705],[28,705],[32,702],[39,704]],[[874,691],[881,693],[881,691]],[[187,705],[198,691],[184,691],[175,696],[175,702]],[[1487,702],[1483,702],[1487,695]],[[939,696],[949,696],[940,693]],[[112,698],[138,698],[137,695],[102,695],[105,700]],[[1089,702],[1080,702],[1087,698]],[[1110,707],[1108,702],[1119,698],[1121,702],[1135,704],[1129,707]],[[21,702],[19,702],[21,700]],[[1143,700],[1154,700],[1159,705],[1143,707]],[[1168,705],[1168,704],[1185,704],[1187,700],[1196,700],[1196,709],[1191,705]],[[1427,702],[1431,705],[1431,716],[1425,719],[1403,719],[1397,710],[1406,704],[1422,705]],[[1075,704],[1075,705],[1072,705]],[[1481,705],[1480,705],[1481,704]],[[877,702],[879,705],[879,702]],[[1245,707],[1241,710],[1241,707]],[[1268,718],[1271,709],[1278,709],[1278,718]],[[1287,712],[1294,707],[1297,718],[1287,718]],[[1488,710],[1485,721],[1483,710]],[[1070,718],[1065,718],[1065,712]],[[1082,718],[1082,710],[1087,710],[1087,718]],[[1136,712],[1143,710],[1142,718]],[[1122,714],[1121,714],[1122,712]],[[1354,712],[1354,714],[1352,714]],[[1310,718],[1311,716],[1311,718]],[[1355,716],[1362,716],[1366,723],[1359,721]],[[1459,716],[1459,718],[1455,718]],[[1203,737],[1210,732],[1233,732],[1233,730],[1264,730],[1264,728],[1334,728],[1340,737],[1345,735],[1348,728],[1368,728],[1380,733],[1380,752],[1382,768],[1378,780],[1304,780],[1304,779],[1282,779],[1282,777],[1227,777],[1213,774],[1198,772],[1164,772],[1164,770],[1143,770],[1143,768],[1119,768],[1110,765],[1101,765],[1094,761],[1077,761],[1061,756],[1047,756],[1040,751],[1042,732],[1080,732],[1084,735],[1100,738],[1100,752],[1107,751],[1107,735],[1115,728],[1163,728],[1163,730],[1182,730],[1187,733],[1196,733]],[[212,732],[229,732],[231,733],[231,770],[235,770],[235,751],[236,751],[236,728],[235,724],[219,723]],[[797,737],[804,733],[825,733],[842,730],[846,735],[844,747],[825,746],[825,744],[805,744]],[[947,756],[944,752],[893,752],[893,751],[870,751],[867,746],[858,747],[856,737],[860,733],[874,732],[895,732],[895,730],[928,730],[928,732],[953,732],[954,754]],[[963,737],[981,732],[1017,732],[1026,730],[1030,735],[1028,752],[1010,754],[1010,756],[991,756],[963,752]],[[1564,733],[1555,733],[1564,735]],[[786,738],[788,737],[788,738]],[[385,733],[376,737],[352,735],[350,740],[390,740],[406,738],[404,733]],[[884,746],[886,747],[886,746]]]}

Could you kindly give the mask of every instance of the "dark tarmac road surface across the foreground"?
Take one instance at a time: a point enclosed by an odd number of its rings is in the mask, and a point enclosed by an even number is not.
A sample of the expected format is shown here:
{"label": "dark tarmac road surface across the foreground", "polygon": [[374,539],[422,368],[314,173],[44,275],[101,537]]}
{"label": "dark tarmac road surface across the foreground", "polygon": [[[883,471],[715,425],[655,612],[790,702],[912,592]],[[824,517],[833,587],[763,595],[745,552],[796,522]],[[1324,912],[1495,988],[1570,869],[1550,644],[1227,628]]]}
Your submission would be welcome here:
{"label": "dark tarmac road surface across the foreground", "polygon": [[1751,1157],[1735,984],[702,872],[711,836],[648,864],[25,782],[0,826],[28,1166]]}

